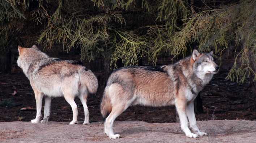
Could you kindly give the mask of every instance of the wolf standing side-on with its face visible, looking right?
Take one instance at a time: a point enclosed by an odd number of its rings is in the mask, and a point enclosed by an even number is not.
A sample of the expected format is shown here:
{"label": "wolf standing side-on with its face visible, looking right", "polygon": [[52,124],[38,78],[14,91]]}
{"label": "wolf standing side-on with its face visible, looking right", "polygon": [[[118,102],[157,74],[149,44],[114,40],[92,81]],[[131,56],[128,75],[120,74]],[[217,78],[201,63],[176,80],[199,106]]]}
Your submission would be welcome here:
{"label": "wolf standing side-on with its face visible, looking right", "polygon": [[[187,137],[207,135],[197,128],[193,101],[213,74],[218,72],[219,66],[212,56],[213,51],[200,54],[194,50],[192,56],[175,64],[115,70],[108,78],[101,102],[102,116],[105,118],[109,114],[104,123],[105,134],[111,139],[120,138],[113,132],[113,123],[130,105],[175,105],[181,128]],[[189,130],[188,120],[196,134]]]}

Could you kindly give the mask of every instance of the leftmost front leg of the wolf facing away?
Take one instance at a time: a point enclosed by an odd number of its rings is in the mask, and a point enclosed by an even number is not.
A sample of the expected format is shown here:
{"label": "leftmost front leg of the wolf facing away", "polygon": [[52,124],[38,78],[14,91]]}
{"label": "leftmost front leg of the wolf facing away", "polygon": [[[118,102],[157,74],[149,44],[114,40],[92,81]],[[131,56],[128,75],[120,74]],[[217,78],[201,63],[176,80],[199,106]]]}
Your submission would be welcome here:
{"label": "leftmost front leg of the wolf facing away", "polygon": [[31,123],[39,123],[40,119],[42,117],[42,100],[43,100],[43,93],[35,91],[35,101],[37,102],[37,116],[35,117],[34,120],[31,120]]}

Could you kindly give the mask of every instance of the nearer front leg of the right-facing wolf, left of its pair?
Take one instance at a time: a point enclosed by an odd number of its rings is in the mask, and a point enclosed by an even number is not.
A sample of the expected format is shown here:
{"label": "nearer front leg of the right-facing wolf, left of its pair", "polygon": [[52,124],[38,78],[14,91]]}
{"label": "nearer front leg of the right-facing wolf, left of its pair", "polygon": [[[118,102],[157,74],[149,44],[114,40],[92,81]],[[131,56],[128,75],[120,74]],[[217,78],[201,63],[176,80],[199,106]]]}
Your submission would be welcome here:
{"label": "nearer front leg of the right-facing wolf, left of its pair", "polygon": [[189,138],[197,138],[197,134],[191,133],[191,131],[188,128],[188,118],[186,115],[186,102],[185,100],[177,99],[175,101],[176,110],[178,112],[179,118],[180,118],[180,127],[182,128],[183,132],[186,134]]}

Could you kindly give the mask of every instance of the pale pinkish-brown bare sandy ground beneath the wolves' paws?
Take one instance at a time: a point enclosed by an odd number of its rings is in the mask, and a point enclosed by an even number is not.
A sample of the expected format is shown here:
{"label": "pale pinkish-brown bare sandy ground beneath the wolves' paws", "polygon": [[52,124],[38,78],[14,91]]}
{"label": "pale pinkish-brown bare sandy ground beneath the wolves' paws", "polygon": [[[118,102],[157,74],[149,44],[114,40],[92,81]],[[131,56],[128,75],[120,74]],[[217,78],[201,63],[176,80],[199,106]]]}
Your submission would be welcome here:
{"label": "pale pinkish-brown bare sandy ground beneath the wolves' paws", "polygon": [[188,138],[179,123],[146,123],[116,121],[114,132],[120,139],[104,135],[102,122],[89,125],[68,125],[66,122],[32,124],[0,123],[1,143],[256,143],[256,121],[212,120],[197,122],[208,136]]}

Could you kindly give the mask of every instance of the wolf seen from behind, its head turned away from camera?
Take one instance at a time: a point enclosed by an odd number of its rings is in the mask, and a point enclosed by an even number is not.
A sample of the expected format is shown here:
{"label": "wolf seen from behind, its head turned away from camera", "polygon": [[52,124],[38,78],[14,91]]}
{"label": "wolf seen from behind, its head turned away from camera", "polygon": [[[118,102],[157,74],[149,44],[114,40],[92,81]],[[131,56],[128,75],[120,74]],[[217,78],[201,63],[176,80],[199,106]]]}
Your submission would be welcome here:
{"label": "wolf seen from behind, its head turned away from camera", "polygon": [[71,105],[73,120],[69,124],[77,123],[77,105],[74,97],[77,95],[84,106],[85,121],[89,123],[89,111],[86,98],[89,93],[95,93],[98,80],[91,70],[78,65],[77,61],[59,60],[51,58],[38,50],[37,46],[24,48],[18,46],[18,66],[30,81],[37,102],[37,116],[31,123],[39,123],[42,114],[42,100],[44,96],[44,117],[41,123],[47,123],[50,116],[51,97],[64,96]]}

